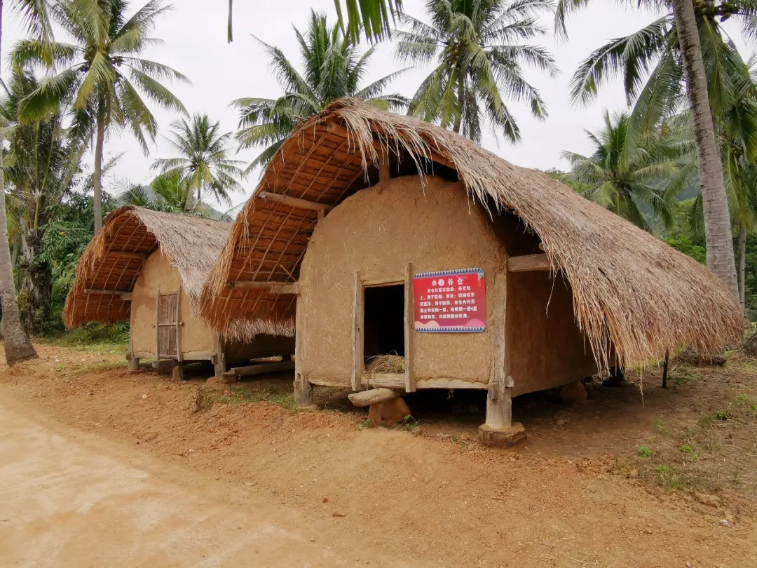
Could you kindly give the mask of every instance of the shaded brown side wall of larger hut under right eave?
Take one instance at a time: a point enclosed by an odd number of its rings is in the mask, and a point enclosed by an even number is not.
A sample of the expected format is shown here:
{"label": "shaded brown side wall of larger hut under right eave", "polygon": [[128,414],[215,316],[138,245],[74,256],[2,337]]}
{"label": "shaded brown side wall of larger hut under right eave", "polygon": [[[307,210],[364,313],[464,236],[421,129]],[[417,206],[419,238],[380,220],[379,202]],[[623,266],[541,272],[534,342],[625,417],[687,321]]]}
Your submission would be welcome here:
{"label": "shaded brown side wall of larger hut under right eave", "polygon": [[509,273],[506,322],[513,395],[565,385],[597,372],[589,344],[575,323],[570,283],[561,274]]}

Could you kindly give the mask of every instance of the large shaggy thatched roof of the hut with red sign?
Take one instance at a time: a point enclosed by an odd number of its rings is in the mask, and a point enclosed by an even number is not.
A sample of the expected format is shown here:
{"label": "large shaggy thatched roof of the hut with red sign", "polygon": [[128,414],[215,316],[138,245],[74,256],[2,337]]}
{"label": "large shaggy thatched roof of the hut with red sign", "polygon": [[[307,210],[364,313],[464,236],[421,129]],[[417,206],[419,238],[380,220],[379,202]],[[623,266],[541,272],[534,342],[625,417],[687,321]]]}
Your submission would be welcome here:
{"label": "large shaggy thatched roof of the hut with red sign", "polygon": [[[481,204],[520,217],[571,283],[575,317],[601,366],[609,345],[630,364],[692,344],[737,342],[740,307],[705,267],[544,173],[509,164],[469,139],[351,99],[302,123],[282,145],[232,226],[201,295],[216,329],[238,320],[291,320],[294,297],[229,282],[298,278],[316,211],[255,198],[259,192],[335,205],[365,187],[382,148],[453,167]],[[362,185],[360,185],[362,184]]]}

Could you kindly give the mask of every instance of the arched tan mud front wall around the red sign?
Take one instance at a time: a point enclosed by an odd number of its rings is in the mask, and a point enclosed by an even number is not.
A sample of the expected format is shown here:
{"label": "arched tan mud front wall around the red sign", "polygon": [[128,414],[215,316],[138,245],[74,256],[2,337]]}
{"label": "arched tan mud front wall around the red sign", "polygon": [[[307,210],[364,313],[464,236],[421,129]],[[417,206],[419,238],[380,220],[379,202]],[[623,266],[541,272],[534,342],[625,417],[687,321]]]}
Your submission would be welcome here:
{"label": "arched tan mud front wall around the red sign", "polygon": [[413,332],[416,379],[488,382],[494,272],[503,247],[484,211],[458,183],[417,176],[378,183],[347,198],[316,226],[301,268],[298,304],[302,372],[311,380],[349,385],[352,374],[354,273],[364,282],[413,272],[480,267],[487,278],[482,333]]}

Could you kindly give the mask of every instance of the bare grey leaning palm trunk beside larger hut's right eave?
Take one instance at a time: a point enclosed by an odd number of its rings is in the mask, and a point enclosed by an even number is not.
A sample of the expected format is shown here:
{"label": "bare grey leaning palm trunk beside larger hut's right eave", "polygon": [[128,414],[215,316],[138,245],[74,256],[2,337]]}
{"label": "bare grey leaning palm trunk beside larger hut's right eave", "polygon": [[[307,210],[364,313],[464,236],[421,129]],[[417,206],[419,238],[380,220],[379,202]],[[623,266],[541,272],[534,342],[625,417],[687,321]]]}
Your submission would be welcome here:
{"label": "bare grey leaning palm trunk beside larger hut's right eave", "polygon": [[691,105],[696,158],[699,161],[699,180],[702,184],[702,204],[707,243],[707,267],[718,276],[736,298],[733,234],[728,215],[728,198],[723,182],[723,165],[715,138],[712,111],[709,105],[702,46],[696,27],[696,15],[691,0],[673,0],[678,45],[686,74],[686,91]]}

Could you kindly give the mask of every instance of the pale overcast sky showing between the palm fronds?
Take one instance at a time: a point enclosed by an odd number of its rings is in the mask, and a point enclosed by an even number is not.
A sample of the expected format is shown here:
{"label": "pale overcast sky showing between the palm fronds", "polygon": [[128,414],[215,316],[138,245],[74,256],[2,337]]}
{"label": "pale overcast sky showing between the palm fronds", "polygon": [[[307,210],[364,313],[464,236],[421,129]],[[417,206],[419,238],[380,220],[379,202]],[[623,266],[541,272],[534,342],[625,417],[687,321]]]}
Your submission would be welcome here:
{"label": "pale overcast sky showing between the palm fronds", "polygon": [[[145,0],[133,2],[134,8]],[[9,2],[5,2],[8,11]],[[220,120],[225,131],[236,128],[237,117],[229,109],[229,101],[243,96],[274,98],[281,94],[276,80],[269,74],[266,58],[260,45],[251,37],[278,45],[291,61],[299,66],[296,39],[292,24],[304,30],[310,8],[324,11],[334,18],[333,0],[236,0],[234,13],[235,40],[226,42],[226,6],[224,0],[175,0],[174,10],[163,17],[154,31],[154,36],[164,39],[164,45],[151,48],[144,57],[170,65],[184,73],[192,85],[174,85],[173,92],[179,96],[190,113],[207,113],[212,120]],[[427,20],[422,0],[404,0],[408,14]],[[9,15],[9,14],[6,14]],[[514,164],[525,167],[565,169],[567,164],[560,158],[563,150],[586,153],[590,150],[584,129],[596,131],[602,126],[606,109],[614,112],[625,108],[619,80],[600,91],[600,96],[588,108],[578,108],[569,101],[569,80],[579,62],[590,51],[603,45],[606,40],[624,36],[638,30],[653,20],[653,14],[628,8],[620,8],[615,2],[594,2],[569,19],[569,41],[556,40],[552,33],[552,20],[544,18],[549,28],[540,41],[549,49],[561,70],[556,79],[551,79],[537,70],[527,70],[526,78],[537,89],[547,104],[549,118],[540,122],[526,108],[512,105],[522,131],[522,142],[497,143],[490,134],[484,137],[484,147]],[[22,33],[17,22],[4,18],[3,61],[8,61],[8,51]],[[732,30],[737,34],[737,30]],[[62,39],[62,38],[61,38]],[[734,37],[734,39],[737,39]],[[740,45],[742,42],[737,40]],[[744,48],[744,55],[749,52]],[[370,67],[369,80],[388,75],[399,67],[392,58],[391,45],[380,45]],[[410,70],[396,80],[391,92],[413,95],[429,68]],[[160,129],[167,133],[172,114],[156,109]],[[106,142],[106,158],[125,151],[126,154],[114,172],[116,180],[147,183],[153,176],[150,164],[155,158],[167,158],[170,152],[162,136],[158,136],[145,157],[142,150],[126,134],[111,136]],[[251,161],[254,151],[241,153],[239,158]],[[91,158],[90,158],[91,161]],[[245,195],[233,195],[234,204],[245,201],[257,184],[259,172],[244,183]],[[108,180],[112,186],[114,179]],[[107,189],[107,186],[106,186]],[[225,209],[221,207],[221,209]]]}

